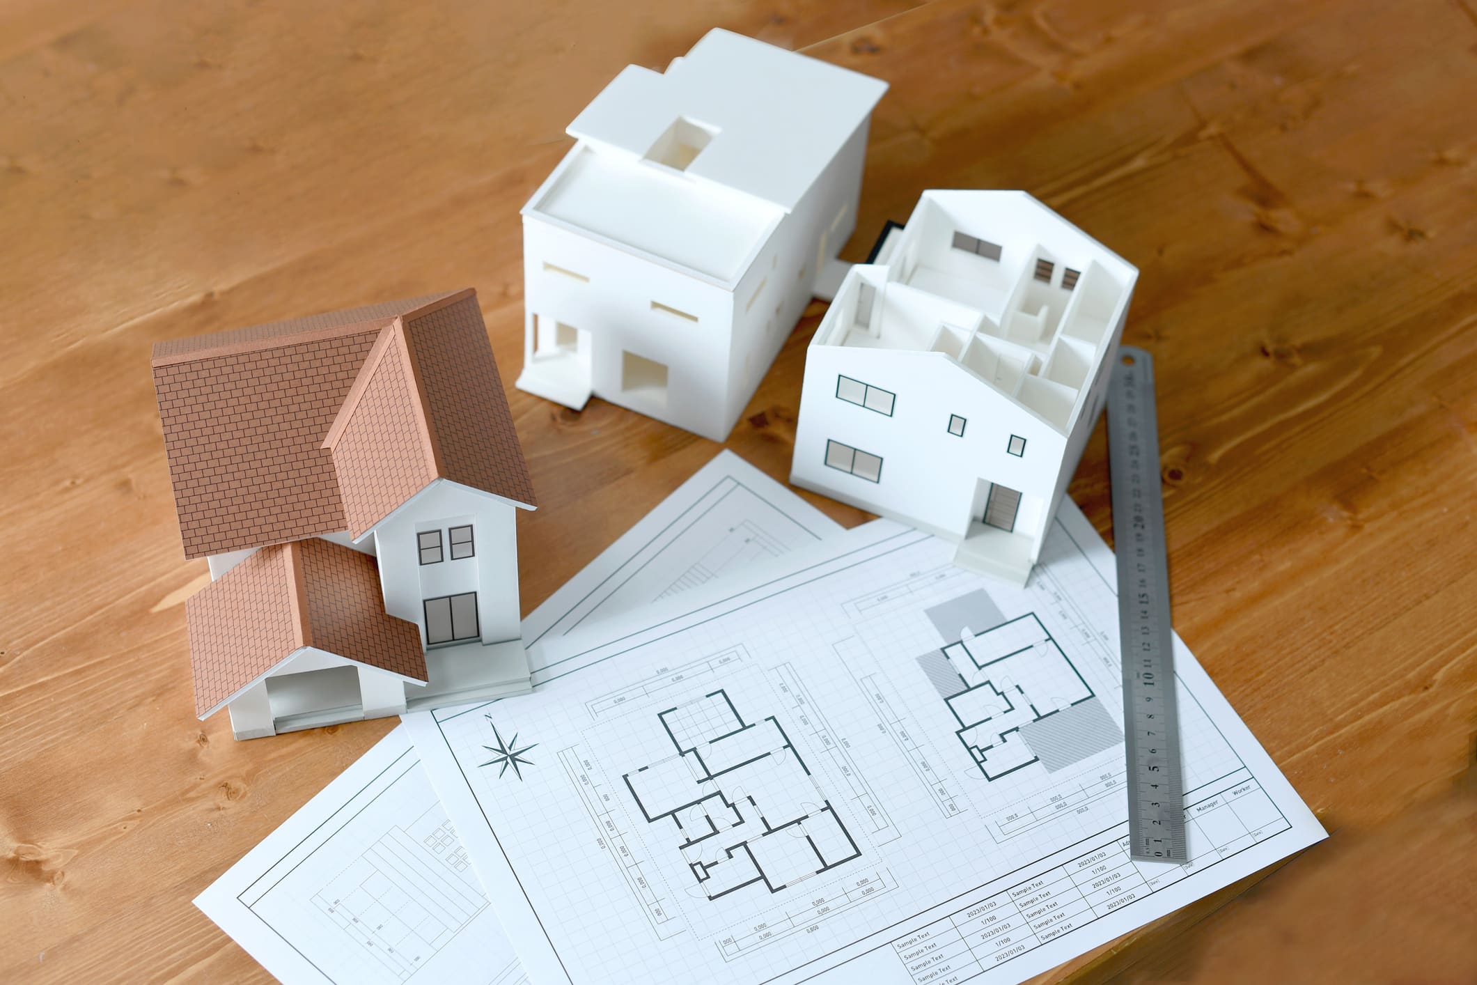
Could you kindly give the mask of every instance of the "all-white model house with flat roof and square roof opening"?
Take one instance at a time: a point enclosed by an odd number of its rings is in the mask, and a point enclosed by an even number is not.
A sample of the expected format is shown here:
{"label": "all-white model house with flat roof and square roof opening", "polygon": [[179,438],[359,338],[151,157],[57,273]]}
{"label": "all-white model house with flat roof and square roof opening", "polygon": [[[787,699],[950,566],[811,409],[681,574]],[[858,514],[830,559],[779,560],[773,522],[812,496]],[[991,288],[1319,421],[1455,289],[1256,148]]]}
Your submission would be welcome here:
{"label": "all-white model house with flat roof and square roof opening", "polygon": [[523,207],[518,388],[724,440],[851,236],[885,90],[728,31],[622,71]]}

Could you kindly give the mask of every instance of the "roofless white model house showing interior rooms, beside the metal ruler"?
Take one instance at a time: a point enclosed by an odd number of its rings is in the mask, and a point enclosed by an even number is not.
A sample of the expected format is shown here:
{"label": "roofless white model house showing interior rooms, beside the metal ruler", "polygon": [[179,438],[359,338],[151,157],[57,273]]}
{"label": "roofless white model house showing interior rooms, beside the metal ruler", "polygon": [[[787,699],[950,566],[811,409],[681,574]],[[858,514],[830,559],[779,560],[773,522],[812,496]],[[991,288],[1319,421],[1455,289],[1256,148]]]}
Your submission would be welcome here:
{"label": "roofless white model house showing interior rooms, beside the metal ruler", "polygon": [[925,192],[811,340],[790,481],[1025,583],[1137,276],[1025,192]]}

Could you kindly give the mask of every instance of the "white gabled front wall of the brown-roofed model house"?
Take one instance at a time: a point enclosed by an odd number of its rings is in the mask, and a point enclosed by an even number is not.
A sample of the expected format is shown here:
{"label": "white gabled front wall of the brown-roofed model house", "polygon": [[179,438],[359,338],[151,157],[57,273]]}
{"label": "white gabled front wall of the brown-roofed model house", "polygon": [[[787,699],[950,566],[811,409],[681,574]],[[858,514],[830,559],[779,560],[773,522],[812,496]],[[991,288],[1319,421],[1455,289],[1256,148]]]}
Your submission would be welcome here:
{"label": "white gabled front wall of the brown-roofed model house", "polygon": [[[477,592],[483,644],[518,639],[517,508],[465,486],[437,480],[374,529],[384,610],[415,623],[425,645],[427,598]],[[453,561],[448,530],[473,526],[474,554]],[[421,564],[417,533],[442,532],[445,560]]]}

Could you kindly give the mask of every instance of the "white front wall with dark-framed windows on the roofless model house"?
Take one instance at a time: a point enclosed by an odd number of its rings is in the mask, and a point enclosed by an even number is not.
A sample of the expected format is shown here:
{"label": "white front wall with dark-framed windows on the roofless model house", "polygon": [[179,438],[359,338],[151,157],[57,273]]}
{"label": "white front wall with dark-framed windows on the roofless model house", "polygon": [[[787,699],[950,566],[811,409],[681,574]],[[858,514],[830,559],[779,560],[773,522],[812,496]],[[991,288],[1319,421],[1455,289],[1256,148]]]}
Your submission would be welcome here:
{"label": "white front wall with dark-framed windows on the roofless model house", "polygon": [[[895,393],[892,416],[836,397],[839,375]],[[969,533],[981,478],[1040,504],[1050,502],[1065,439],[1044,421],[942,354],[811,346],[795,434],[792,481],[942,536]],[[966,418],[964,436],[948,433],[950,415]],[[1025,455],[1007,453],[1012,434]],[[882,458],[880,481],[826,465],[826,443]],[[1046,512],[1022,502],[1016,532],[1037,538]]]}

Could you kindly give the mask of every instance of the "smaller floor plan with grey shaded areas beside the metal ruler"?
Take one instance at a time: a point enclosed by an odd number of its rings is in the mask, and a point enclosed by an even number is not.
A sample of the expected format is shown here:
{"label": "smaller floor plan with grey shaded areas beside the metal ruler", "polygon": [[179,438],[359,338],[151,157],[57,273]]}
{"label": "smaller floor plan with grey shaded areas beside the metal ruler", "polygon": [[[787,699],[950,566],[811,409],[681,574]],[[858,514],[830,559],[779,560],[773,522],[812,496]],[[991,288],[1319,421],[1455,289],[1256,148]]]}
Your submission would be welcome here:
{"label": "smaller floor plan with grey shaded areas beside the metal ruler", "polygon": [[[942,631],[942,626],[941,626]],[[985,780],[1040,762],[1049,772],[1120,741],[1112,721],[1035,613],[917,659]]]}

